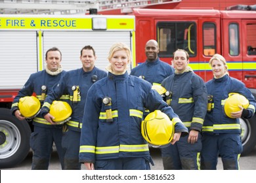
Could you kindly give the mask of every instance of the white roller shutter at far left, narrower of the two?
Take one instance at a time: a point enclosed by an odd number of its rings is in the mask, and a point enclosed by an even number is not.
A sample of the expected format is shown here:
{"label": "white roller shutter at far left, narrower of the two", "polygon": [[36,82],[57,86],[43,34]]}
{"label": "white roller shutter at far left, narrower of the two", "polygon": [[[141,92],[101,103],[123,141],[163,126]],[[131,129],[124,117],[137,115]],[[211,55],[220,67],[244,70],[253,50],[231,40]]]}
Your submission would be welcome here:
{"label": "white roller shutter at far left, narrower of the two", "polygon": [[0,89],[20,89],[35,72],[36,32],[0,31]]}

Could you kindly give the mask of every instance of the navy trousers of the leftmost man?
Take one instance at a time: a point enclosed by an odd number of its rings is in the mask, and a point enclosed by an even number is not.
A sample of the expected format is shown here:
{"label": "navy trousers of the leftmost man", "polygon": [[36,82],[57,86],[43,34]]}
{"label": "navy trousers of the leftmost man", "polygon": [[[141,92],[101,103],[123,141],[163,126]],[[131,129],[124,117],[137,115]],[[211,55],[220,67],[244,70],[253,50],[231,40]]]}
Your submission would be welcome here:
{"label": "navy trousers of the leftmost man", "polygon": [[53,142],[58,152],[58,158],[62,169],[64,169],[64,152],[61,145],[62,126],[55,128],[45,128],[34,126],[34,131],[30,135],[30,147],[33,150],[32,169],[47,170],[53,151]]}

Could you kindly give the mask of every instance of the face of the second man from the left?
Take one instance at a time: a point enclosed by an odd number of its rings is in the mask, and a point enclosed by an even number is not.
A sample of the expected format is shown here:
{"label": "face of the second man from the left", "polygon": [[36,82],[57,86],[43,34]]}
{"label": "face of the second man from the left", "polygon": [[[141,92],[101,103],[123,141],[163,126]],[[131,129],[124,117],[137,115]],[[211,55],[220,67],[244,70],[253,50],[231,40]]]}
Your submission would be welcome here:
{"label": "face of the second man from the left", "polygon": [[89,72],[93,70],[93,67],[95,67],[96,56],[94,56],[93,50],[82,50],[80,60],[83,64],[83,70],[85,72]]}

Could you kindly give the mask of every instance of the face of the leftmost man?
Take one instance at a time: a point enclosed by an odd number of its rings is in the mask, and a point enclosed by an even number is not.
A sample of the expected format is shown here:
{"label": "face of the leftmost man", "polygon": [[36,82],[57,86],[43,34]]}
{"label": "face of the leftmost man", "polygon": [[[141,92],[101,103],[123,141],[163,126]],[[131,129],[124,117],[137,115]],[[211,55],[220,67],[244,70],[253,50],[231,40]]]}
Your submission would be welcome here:
{"label": "face of the leftmost man", "polygon": [[59,51],[49,51],[47,58],[45,58],[47,69],[54,72],[60,67],[61,54]]}

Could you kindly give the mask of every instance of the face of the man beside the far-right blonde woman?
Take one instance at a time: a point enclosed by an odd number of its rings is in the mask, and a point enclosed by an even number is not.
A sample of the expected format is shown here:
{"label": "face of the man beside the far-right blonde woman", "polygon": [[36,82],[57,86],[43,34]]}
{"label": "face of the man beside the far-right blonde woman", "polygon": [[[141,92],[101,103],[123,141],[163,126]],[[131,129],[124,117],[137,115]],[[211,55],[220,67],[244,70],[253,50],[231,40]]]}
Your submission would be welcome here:
{"label": "face of the man beside the far-right blonde woman", "polygon": [[173,67],[177,73],[183,73],[189,63],[186,53],[182,50],[177,50],[173,56]]}

